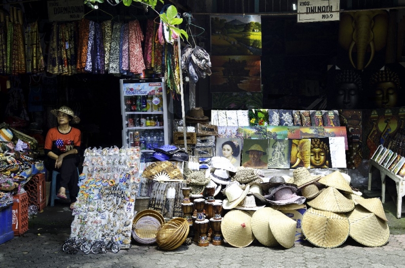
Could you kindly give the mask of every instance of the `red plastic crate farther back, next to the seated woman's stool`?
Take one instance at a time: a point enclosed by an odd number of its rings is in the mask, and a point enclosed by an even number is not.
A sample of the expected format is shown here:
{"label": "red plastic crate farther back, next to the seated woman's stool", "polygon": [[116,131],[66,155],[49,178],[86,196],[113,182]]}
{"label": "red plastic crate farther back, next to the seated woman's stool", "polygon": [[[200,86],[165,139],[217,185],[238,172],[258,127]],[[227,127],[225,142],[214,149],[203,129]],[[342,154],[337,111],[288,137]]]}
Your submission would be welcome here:
{"label": "red plastic crate farther back, next to the seated woman's stool", "polygon": [[47,206],[47,193],[45,185],[45,174],[38,173],[32,176],[31,180],[24,186],[28,195],[28,203],[36,205],[39,211]]}

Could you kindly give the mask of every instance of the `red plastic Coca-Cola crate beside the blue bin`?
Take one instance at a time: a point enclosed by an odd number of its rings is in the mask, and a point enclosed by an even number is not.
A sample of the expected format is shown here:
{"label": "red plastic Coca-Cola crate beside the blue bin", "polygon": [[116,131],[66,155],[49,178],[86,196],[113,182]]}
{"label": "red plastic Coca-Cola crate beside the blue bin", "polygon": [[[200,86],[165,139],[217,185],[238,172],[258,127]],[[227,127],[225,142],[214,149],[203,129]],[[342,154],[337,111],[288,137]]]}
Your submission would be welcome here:
{"label": "red plastic Coca-Cola crate beside the blue bin", "polygon": [[15,236],[28,231],[28,195],[27,193],[13,196],[12,226]]}

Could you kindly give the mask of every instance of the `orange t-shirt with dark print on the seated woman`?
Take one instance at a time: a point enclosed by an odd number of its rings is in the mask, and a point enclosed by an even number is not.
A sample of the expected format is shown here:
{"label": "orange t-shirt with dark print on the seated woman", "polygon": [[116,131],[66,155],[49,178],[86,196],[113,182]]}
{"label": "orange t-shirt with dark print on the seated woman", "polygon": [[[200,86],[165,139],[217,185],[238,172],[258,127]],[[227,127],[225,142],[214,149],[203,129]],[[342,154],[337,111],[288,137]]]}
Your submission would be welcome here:
{"label": "orange t-shirt with dark print on the seated woman", "polygon": [[59,132],[58,127],[53,127],[49,129],[45,139],[45,154],[52,151],[56,155],[61,155],[72,149],[78,149],[81,142],[82,132],[79,129],[72,127],[68,133],[63,134]]}

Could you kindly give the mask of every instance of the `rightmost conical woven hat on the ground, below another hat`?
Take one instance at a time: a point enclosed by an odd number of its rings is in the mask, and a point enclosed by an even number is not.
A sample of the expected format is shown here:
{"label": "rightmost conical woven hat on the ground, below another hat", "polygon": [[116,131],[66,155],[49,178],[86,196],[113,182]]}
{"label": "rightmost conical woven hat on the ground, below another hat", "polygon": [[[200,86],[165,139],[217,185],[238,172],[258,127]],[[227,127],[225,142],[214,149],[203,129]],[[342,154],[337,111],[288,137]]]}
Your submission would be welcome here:
{"label": "rightmost conical woven hat on the ground, below another hat", "polygon": [[358,243],[368,247],[381,247],[388,242],[389,228],[387,221],[380,219],[373,212],[356,206],[347,213],[350,222],[349,236]]}

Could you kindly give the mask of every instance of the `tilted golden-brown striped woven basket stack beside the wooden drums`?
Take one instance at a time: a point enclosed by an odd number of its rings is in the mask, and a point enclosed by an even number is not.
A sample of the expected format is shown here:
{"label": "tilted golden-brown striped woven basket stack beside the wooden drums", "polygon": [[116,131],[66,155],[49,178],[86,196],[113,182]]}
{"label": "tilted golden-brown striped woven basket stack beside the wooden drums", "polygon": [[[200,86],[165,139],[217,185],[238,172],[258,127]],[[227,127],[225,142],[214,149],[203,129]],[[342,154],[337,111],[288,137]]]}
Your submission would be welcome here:
{"label": "tilted golden-brown striped woven basket stack beside the wooden drums", "polygon": [[185,218],[173,218],[159,227],[156,243],[159,248],[164,250],[176,249],[186,240],[189,229],[188,221]]}

